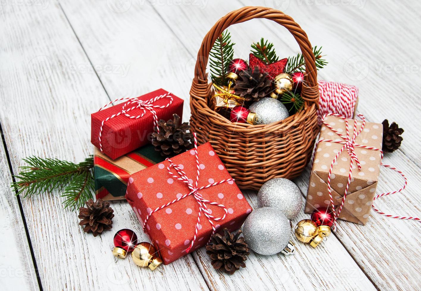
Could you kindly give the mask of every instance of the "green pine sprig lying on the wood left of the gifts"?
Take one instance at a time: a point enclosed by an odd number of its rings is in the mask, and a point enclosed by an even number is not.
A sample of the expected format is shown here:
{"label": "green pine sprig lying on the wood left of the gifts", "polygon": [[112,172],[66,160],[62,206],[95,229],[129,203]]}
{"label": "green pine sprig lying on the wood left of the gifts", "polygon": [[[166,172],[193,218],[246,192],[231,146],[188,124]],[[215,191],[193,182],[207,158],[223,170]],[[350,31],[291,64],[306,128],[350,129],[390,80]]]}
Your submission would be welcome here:
{"label": "green pine sprig lying on the wood left of the gifts", "polygon": [[[92,198],[94,179],[92,175],[93,156],[75,164],[64,160],[27,157],[23,159],[27,166],[22,166],[16,181],[11,183],[17,193],[24,197],[33,194],[63,189],[64,207],[75,209],[83,206]],[[19,181],[18,181],[19,180]]]}

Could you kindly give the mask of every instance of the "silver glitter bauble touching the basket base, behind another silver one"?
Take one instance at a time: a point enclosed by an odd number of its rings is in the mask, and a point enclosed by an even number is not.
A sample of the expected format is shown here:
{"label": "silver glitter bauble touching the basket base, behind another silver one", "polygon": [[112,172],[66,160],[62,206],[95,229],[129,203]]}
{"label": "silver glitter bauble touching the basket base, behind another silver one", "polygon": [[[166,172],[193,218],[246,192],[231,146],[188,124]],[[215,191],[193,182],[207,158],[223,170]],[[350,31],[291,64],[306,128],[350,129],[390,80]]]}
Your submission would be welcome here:
{"label": "silver glitter bauble touching the basket base, behind another silver one", "polygon": [[261,186],[257,196],[259,207],[277,208],[290,220],[298,215],[303,204],[303,196],[298,186],[285,178],[267,181]]}

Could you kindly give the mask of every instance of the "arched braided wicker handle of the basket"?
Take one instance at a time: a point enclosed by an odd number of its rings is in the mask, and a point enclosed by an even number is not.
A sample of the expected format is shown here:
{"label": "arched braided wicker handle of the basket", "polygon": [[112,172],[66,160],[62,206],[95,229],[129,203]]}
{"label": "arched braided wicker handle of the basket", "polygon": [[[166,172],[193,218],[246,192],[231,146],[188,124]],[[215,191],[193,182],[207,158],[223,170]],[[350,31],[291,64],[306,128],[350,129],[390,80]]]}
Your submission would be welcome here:
{"label": "arched braided wicker handle of the basket", "polygon": [[254,18],[266,18],[275,21],[288,29],[296,39],[300,46],[301,53],[304,56],[306,66],[301,96],[304,100],[317,104],[319,100],[317,69],[312,45],[309,42],[307,34],[290,16],[276,9],[259,6],[243,7],[226,14],[226,16],[219,19],[206,34],[199,52],[197,53],[195,79],[193,79],[192,90],[190,91],[192,97],[199,97],[200,99],[207,97],[208,74],[206,73],[206,65],[208,64],[209,52],[216,39],[228,28],[228,26]]}

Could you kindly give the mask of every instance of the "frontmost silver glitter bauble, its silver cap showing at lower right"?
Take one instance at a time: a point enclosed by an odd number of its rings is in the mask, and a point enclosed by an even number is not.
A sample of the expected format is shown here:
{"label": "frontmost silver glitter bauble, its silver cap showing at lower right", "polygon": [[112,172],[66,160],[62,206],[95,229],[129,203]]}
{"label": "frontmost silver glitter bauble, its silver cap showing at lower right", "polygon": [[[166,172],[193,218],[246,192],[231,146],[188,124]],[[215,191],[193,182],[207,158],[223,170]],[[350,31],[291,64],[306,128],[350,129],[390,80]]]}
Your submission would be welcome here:
{"label": "frontmost silver glitter bauble, its silver cap showing at lower right", "polygon": [[282,252],[288,245],[291,227],[282,211],[263,207],[248,215],[242,233],[250,249],[268,256]]}

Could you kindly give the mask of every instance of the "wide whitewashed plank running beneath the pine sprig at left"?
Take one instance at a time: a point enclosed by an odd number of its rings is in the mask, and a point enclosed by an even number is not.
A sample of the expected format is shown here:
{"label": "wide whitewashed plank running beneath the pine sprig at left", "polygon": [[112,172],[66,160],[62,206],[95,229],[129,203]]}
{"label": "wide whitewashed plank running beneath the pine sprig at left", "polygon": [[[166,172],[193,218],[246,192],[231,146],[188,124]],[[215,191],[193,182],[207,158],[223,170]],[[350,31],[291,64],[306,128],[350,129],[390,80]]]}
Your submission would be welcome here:
{"label": "wide whitewashed plank running beneath the pine sprig at left", "polygon": [[[13,170],[29,155],[83,160],[93,152],[90,113],[109,99],[64,13],[51,2],[4,5],[1,14],[0,122]],[[44,289],[208,289],[191,256],[154,273],[131,259],[114,262],[115,231],[131,228],[147,239],[127,203],[112,204],[113,230],[94,238],[78,226],[75,211],[62,208],[59,195],[41,193],[22,203]]]}

